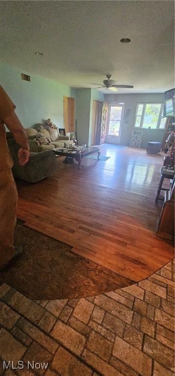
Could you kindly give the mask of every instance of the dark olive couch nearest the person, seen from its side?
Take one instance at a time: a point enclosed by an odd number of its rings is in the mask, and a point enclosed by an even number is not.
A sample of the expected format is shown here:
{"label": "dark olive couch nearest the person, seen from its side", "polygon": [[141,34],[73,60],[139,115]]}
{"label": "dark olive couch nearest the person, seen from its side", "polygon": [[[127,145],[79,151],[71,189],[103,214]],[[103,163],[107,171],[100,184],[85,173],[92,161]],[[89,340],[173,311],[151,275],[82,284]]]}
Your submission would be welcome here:
{"label": "dark olive couch nearest the person, seen from its side", "polygon": [[58,169],[58,161],[51,150],[41,151],[40,153],[30,153],[29,162],[21,166],[18,162],[18,150],[20,145],[18,145],[13,138],[10,138],[10,132],[7,132],[7,134],[7,143],[14,162],[12,172],[15,178],[30,183],[36,183],[56,172]]}

